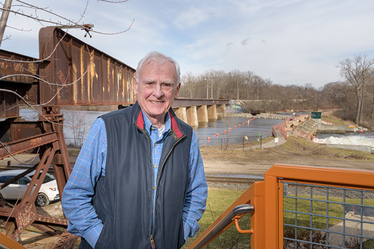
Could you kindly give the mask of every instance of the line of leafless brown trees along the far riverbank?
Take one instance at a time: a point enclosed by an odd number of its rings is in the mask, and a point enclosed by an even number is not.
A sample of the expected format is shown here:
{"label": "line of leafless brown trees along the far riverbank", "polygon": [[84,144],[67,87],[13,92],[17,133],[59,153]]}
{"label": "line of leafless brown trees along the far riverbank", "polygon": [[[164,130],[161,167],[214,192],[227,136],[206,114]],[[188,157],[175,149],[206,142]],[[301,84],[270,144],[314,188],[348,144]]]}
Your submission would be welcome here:
{"label": "line of leafless brown trees along the far riverbank", "polygon": [[356,55],[339,62],[341,81],[315,88],[279,85],[253,72],[209,70],[182,76],[180,97],[192,99],[251,100],[253,108],[265,112],[333,110],[356,124],[374,127],[374,59]]}

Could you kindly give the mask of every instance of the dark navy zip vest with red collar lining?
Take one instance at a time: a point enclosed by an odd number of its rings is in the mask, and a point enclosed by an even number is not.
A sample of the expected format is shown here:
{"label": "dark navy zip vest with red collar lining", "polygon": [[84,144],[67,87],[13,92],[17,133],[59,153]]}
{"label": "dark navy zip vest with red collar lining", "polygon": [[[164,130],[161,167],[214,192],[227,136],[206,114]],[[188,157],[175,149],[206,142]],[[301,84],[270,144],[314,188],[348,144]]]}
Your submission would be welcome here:
{"label": "dark navy zip vest with red collar lining", "polygon": [[[93,206],[104,227],[95,249],[179,249],[188,188],[192,128],[172,109],[159,164],[154,229],[151,231],[153,164],[151,140],[136,103],[101,116],[107,133],[105,176],[96,183]],[[82,238],[80,249],[91,249]]]}

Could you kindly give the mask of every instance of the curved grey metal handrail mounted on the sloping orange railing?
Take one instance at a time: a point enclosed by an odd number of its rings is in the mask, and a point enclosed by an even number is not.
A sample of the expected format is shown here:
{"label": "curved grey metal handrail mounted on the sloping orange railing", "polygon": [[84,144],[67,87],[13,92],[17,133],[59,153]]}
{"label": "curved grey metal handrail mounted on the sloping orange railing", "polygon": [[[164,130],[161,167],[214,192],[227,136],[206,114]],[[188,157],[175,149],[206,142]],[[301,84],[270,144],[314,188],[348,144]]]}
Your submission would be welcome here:
{"label": "curved grey metal handrail mounted on the sloping orange railing", "polygon": [[252,204],[242,204],[234,207],[191,249],[203,248],[206,243],[216,237],[225,227],[232,223],[236,216],[249,213],[254,213],[254,206]]}

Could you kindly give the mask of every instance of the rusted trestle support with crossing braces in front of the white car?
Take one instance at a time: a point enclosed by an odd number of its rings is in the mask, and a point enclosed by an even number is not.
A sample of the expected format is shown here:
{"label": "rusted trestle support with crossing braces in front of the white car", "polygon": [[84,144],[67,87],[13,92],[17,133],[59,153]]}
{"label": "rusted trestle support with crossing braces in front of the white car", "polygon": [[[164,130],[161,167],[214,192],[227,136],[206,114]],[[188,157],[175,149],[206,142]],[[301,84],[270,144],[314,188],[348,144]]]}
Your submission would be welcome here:
{"label": "rusted trestle support with crossing braces in front of the white car", "polygon": [[[60,235],[53,248],[69,249],[77,236],[66,232],[67,219],[37,214],[35,207],[37,194],[50,165],[54,169],[60,196],[62,196],[63,188],[71,173],[69,156],[63,137],[63,115],[59,113],[59,108],[43,108],[42,113],[39,115],[39,121],[35,123],[39,123],[39,130],[40,132],[44,131],[44,133],[5,143],[4,145],[7,150],[2,146],[0,147],[0,155],[2,156],[9,156],[9,152],[16,154],[36,147],[42,148],[41,150],[43,151],[37,165],[9,180],[14,181],[15,179],[19,179],[35,169],[35,174],[31,179],[29,187],[18,204],[13,206],[4,200],[0,200],[0,218],[7,220],[4,226],[6,236],[15,241],[20,238],[24,229],[28,226],[33,226],[49,236]],[[29,125],[31,127],[35,126],[35,124]],[[8,183],[10,182],[4,183],[1,187],[6,187]],[[64,232],[57,229],[58,227],[63,228]]]}

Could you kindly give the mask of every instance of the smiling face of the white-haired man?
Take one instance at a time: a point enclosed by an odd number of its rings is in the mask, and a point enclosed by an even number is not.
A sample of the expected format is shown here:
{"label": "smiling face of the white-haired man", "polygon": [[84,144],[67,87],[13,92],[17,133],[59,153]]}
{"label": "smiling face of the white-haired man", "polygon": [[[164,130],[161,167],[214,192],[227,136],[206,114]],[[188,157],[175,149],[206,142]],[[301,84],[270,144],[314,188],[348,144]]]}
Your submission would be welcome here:
{"label": "smiling face of the white-haired man", "polygon": [[177,82],[176,68],[169,61],[161,65],[151,61],[143,64],[139,73],[139,82],[134,78],[138,103],[152,124],[162,126],[181,87]]}

